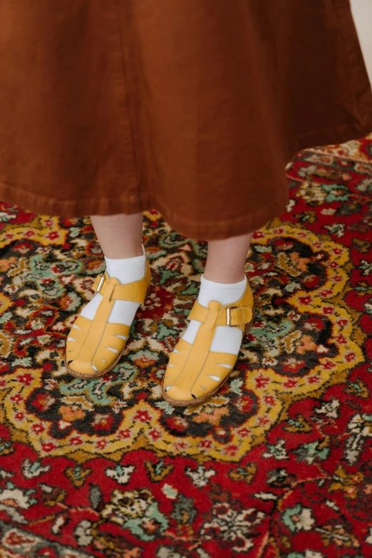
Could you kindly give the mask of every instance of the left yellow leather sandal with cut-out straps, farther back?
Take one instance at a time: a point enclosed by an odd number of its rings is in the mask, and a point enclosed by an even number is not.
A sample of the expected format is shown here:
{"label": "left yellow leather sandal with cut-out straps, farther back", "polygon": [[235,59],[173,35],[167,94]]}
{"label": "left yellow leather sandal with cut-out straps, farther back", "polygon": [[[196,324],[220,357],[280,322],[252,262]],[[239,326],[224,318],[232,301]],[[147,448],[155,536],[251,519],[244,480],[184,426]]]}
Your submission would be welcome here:
{"label": "left yellow leather sandal with cut-out straps, farther back", "polygon": [[148,259],[145,275],[139,281],[122,285],[107,272],[96,277],[92,289],[103,299],[93,320],[81,315],[76,318],[66,341],[65,364],[72,376],[99,378],[118,363],[125,350],[130,326],[109,324],[110,311],[115,300],[144,304],[150,291],[150,277]]}

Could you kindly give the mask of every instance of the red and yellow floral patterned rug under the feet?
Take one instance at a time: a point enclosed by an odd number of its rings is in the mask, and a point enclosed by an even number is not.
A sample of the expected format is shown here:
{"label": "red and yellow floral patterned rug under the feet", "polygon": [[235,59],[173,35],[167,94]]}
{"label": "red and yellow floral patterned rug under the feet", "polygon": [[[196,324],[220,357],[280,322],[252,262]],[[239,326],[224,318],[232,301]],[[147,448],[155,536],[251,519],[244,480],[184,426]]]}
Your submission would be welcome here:
{"label": "red and yellow floral patterned rug under the feet", "polygon": [[151,294],[120,363],[85,381],[63,348],[105,269],[91,220],[1,203],[1,558],[372,556],[372,135],[286,172],[237,367],[190,409],[160,380],[206,243],[146,213]]}

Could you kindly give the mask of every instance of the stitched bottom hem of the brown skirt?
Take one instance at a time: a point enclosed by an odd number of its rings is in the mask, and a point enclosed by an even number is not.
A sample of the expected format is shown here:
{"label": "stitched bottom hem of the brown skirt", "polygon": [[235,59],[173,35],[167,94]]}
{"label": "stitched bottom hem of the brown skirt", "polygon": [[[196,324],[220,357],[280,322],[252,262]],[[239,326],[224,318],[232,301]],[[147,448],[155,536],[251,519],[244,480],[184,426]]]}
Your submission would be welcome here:
{"label": "stitched bottom hem of the brown skirt", "polygon": [[[341,125],[329,130],[316,130],[316,132],[304,133],[297,136],[292,148],[286,150],[285,160],[290,161],[300,150],[325,145],[340,145],[348,141],[364,138],[372,133],[372,113],[370,118],[364,120],[365,126],[351,128],[350,125]],[[283,169],[285,177],[285,169]],[[285,182],[284,182],[285,184]],[[83,217],[91,215],[117,215],[118,213],[136,213],[156,209],[162,213],[165,221],[177,232],[185,237],[194,239],[224,239],[228,237],[246,234],[264,227],[274,217],[279,217],[285,210],[289,198],[288,190],[283,187],[278,192],[276,200],[270,200],[269,205],[260,207],[257,212],[239,215],[230,219],[219,219],[209,222],[197,222],[193,219],[183,217],[180,212],[175,212],[167,207],[162,201],[157,200],[156,195],[140,193],[140,197],[130,195],[126,199],[118,198],[118,195],[100,199],[86,200],[61,200],[31,193],[27,185],[17,185],[6,181],[0,181],[0,199],[11,205],[18,205],[23,209],[38,213],[39,215],[58,215],[60,217]],[[56,190],[58,190],[56,188]],[[61,191],[61,189],[59,189]],[[182,209],[181,209],[182,211]]]}

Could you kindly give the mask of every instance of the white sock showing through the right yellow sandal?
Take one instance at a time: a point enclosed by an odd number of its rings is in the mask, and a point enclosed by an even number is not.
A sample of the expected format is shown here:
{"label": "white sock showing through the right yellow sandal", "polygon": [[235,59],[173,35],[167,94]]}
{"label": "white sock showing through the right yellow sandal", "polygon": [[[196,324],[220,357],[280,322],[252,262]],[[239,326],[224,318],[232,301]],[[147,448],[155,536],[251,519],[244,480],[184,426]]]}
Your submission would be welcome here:
{"label": "white sock showing through the right yellow sandal", "polygon": [[[211,300],[216,300],[221,304],[230,304],[240,299],[244,294],[246,286],[247,278],[239,281],[239,283],[225,284],[209,281],[202,275],[197,301],[206,308]],[[190,324],[182,335],[182,339],[188,343],[193,343],[199,327],[200,321],[190,320]],[[243,332],[237,327],[217,326],[210,350],[237,355],[242,344],[242,338]]]}

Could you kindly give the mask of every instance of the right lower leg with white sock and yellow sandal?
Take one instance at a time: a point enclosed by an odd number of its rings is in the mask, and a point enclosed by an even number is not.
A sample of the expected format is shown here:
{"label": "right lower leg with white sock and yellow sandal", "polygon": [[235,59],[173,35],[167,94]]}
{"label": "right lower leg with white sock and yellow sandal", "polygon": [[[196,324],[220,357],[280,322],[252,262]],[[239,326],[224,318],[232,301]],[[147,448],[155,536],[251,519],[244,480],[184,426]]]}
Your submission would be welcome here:
{"label": "right lower leg with white sock and yellow sandal", "polygon": [[208,242],[197,303],[163,378],[163,397],[173,405],[207,401],[234,368],[244,331],[254,316],[244,272],[251,240],[249,233]]}

